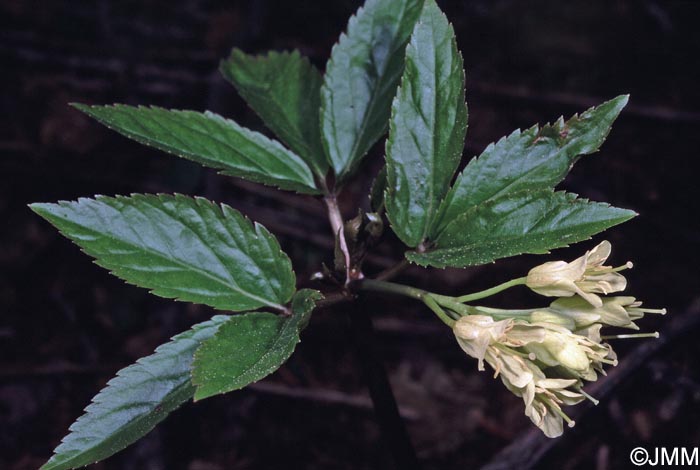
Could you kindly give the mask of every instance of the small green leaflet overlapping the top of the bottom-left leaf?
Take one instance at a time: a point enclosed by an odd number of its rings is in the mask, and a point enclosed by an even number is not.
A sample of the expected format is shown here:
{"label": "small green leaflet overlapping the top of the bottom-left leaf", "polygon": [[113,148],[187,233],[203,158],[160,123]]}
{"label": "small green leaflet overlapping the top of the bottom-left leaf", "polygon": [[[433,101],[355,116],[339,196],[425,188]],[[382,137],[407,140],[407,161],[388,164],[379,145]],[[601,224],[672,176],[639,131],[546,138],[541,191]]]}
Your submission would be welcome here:
{"label": "small green leaflet overlapping the top of the bottom-left leaf", "polygon": [[291,316],[251,312],[231,317],[195,353],[195,401],[238,390],[276,371],[294,352],[321,298],[320,292],[303,289],[292,300]]}

